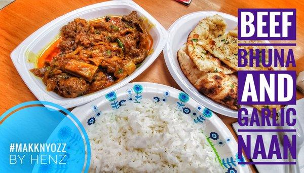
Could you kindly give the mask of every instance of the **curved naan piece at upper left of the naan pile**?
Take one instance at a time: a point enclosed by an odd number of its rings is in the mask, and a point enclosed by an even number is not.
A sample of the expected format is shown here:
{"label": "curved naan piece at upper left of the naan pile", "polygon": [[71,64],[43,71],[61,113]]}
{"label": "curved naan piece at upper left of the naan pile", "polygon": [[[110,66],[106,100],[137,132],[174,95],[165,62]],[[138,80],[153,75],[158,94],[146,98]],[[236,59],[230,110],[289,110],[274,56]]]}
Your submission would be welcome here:
{"label": "curved naan piece at upper left of the naan pile", "polygon": [[197,65],[200,71],[204,72],[222,72],[232,74],[235,71],[221,65],[221,61],[208,53],[201,45],[200,40],[207,38],[217,38],[225,33],[226,23],[219,15],[207,17],[189,33],[187,38],[187,49],[189,57]]}

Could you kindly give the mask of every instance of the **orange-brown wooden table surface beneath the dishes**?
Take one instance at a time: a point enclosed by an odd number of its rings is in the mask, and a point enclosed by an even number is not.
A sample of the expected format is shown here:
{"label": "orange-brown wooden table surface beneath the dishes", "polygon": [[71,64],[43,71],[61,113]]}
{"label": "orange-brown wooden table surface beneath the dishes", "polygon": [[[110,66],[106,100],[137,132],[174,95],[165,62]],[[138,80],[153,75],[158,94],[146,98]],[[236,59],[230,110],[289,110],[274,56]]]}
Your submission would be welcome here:
{"label": "orange-brown wooden table surface beneath the dishes", "polygon": [[[11,52],[32,32],[51,20],[72,10],[99,2],[102,1],[74,0],[71,3],[65,0],[16,0],[0,10],[0,88],[3,93],[0,97],[0,114],[21,102],[36,100],[17,73],[10,58]],[[173,0],[135,0],[135,2],[154,16],[166,29],[178,18],[196,11],[212,10],[237,16],[238,8],[297,8],[297,41],[295,42],[297,46],[293,47],[297,67],[290,69],[297,72],[304,70],[304,42],[301,42],[304,39],[304,22],[302,22],[304,21],[304,1],[193,0],[189,7]],[[133,80],[133,82],[139,81],[161,83],[180,89],[166,67],[163,53],[145,72]],[[303,94],[298,92],[297,98],[302,97]],[[231,124],[237,119],[218,116],[235,135]]]}

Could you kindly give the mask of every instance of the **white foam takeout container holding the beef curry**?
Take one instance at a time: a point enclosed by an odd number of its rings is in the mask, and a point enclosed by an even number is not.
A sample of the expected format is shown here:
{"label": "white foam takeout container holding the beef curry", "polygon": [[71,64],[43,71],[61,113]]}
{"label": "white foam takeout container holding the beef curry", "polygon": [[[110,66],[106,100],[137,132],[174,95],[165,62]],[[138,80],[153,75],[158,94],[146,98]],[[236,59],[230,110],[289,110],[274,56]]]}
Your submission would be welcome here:
{"label": "white foam takeout container holding the beef curry", "polygon": [[[53,91],[48,92],[43,81],[29,72],[31,68],[35,67],[35,64],[28,60],[29,54],[39,55],[39,53],[58,36],[60,28],[68,22],[78,17],[92,20],[109,15],[127,15],[133,10],[137,11],[137,15],[140,18],[147,19],[148,23],[153,26],[149,30],[149,34],[153,38],[154,42],[152,47],[153,52],[146,57],[144,62],[133,74],[124,80],[91,94],[76,98],[64,98]],[[84,103],[92,101],[108,92],[116,90],[140,75],[161,53],[167,43],[167,37],[167,30],[154,17],[133,1],[110,1],[74,10],[47,23],[17,46],[17,48],[11,53],[11,58],[19,75],[37,99],[54,102],[64,108],[71,108],[83,105]]]}

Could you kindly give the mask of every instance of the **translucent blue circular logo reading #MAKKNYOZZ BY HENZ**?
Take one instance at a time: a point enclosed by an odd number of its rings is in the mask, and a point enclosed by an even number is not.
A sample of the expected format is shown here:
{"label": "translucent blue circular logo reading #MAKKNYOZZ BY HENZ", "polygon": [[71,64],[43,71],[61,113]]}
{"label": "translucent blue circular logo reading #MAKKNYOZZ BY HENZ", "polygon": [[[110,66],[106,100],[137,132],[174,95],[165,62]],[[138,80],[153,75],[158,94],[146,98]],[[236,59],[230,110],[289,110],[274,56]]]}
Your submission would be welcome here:
{"label": "translucent blue circular logo reading #MAKKNYOZZ BY HENZ", "polygon": [[47,101],[17,105],[0,117],[0,172],[88,172],[91,150],[81,122]]}

